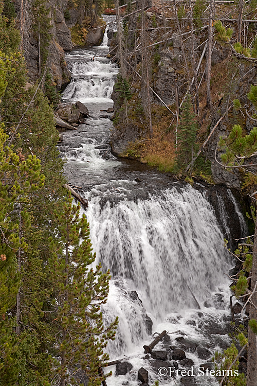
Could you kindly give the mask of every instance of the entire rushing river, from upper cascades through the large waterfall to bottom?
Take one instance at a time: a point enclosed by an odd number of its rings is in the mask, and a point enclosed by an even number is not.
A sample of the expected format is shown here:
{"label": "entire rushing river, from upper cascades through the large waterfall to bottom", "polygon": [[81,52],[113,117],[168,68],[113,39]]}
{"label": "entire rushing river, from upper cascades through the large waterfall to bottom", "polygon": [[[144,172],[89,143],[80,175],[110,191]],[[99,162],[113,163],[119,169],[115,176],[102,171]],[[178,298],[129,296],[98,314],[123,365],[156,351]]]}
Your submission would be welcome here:
{"label": "entire rushing river, from upper cascades through the large waterfall to bottom", "polygon": [[[66,56],[72,80],[63,101],[80,100],[90,118],[77,131],[64,132],[59,148],[67,159],[68,181],[81,186],[89,200],[86,215],[97,260],[112,273],[103,312],[106,321],[118,315],[120,322],[117,339],[108,344],[108,352],[111,359],[128,356],[133,365],[129,374],[113,375],[107,384],[137,385],[141,366],[149,371],[149,384],[155,379],[173,384],[171,378],[158,376],[151,362],[143,359],[142,346],[152,340],[149,317],[153,332],[169,331],[170,346],[183,336],[210,353],[226,348],[230,312],[229,282],[224,272],[231,263],[221,230],[230,235],[230,214],[218,196],[222,210],[218,224],[204,187],[193,189],[174,182],[168,174],[120,160],[111,153],[112,113],[106,110],[113,106],[110,98],[118,68],[106,58],[106,43],[105,34],[102,46]],[[244,232],[244,219],[231,192],[228,194]],[[157,349],[164,346],[159,343]],[[186,355],[195,366],[210,361],[210,355],[203,358],[195,350],[188,350]],[[115,371],[114,366],[110,369]],[[194,378],[208,386],[216,384],[213,377]]]}

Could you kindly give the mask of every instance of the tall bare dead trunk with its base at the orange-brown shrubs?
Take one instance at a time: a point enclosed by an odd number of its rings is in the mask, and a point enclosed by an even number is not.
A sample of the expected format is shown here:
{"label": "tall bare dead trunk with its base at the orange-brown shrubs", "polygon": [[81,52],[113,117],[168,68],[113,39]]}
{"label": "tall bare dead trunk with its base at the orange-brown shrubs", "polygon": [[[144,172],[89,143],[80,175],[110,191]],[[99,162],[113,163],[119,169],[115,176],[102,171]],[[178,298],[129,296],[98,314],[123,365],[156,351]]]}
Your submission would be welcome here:
{"label": "tall bare dead trunk with its base at the orange-brown shrubs", "polygon": [[141,43],[142,43],[142,104],[146,117],[149,119],[150,138],[153,136],[152,112],[151,112],[151,94],[150,94],[150,63],[146,49],[146,32],[145,32],[145,13],[144,0],[141,0]]}

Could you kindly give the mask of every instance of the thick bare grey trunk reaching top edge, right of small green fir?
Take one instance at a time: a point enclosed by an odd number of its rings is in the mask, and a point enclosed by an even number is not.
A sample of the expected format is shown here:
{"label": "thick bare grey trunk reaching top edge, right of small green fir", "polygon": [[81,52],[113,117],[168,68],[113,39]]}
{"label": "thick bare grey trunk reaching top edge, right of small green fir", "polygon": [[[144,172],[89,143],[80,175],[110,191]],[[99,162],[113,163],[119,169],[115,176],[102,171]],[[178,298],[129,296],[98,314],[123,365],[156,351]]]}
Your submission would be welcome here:
{"label": "thick bare grey trunk reaching top edge, right of small green fir", "polygon": [[209,32],[208,32],[208,54],[206,63],[206,83],[207,83],[207,108],[212,110],[211,100],[211,51],[212,51],[212,39],[213,39],[213,22],[214,22],[215,3],[214,0],[210,0],[210,15],[209,15]]}

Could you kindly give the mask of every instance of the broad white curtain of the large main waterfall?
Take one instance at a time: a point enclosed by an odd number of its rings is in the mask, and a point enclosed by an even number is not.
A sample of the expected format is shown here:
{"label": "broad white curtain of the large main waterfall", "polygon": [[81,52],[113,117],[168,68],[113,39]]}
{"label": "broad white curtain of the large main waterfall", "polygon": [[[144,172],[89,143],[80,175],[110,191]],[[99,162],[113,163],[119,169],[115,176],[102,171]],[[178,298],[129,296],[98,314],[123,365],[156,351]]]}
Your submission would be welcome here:
{"label": "broad white curtain of the large main waterfall", "polygon": [[190,185],[167,189],[150,200],[90,200],[91,240],[103,268],[136,289],[156,318],[195,307],[225,282],[223,236],[211,206]]}

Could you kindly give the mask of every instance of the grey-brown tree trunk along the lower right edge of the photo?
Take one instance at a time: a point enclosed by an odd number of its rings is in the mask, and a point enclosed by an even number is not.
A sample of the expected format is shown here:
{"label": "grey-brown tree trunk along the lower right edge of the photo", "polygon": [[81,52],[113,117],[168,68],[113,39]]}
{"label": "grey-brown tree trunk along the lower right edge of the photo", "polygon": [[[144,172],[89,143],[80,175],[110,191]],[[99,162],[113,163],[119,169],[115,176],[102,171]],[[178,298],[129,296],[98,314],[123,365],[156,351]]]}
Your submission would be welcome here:
{"label": "grey-brown tree trunk along the lower right edge of the photo", "polygon": [[[257,282],[257,221],[255,222],[255,234],[252,252],[252,278],[251,292]],[[249,318],[257,320],[257,293],[251,297]],[[257,336],[248,328],[248,358],[247,358],[247,386],[257,386]]]}

